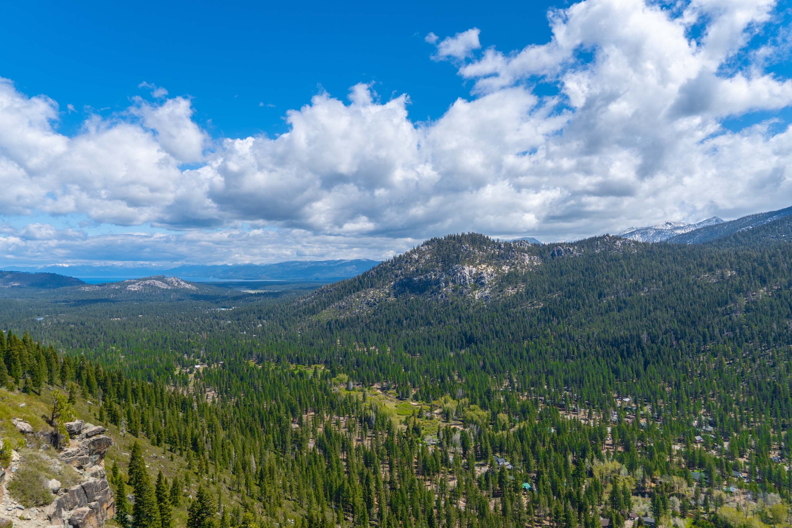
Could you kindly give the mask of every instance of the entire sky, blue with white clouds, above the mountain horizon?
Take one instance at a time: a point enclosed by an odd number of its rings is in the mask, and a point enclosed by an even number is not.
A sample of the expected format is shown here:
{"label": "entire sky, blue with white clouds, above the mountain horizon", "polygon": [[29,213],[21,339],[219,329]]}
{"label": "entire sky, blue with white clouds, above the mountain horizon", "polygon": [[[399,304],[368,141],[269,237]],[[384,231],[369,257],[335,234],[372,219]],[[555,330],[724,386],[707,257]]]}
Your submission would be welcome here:
{"label": "entire sky, blue with white clouds, above the mountain horizon", "polygon": [[0,265],[383,259],[786,207],[790,11],[9,4]]}

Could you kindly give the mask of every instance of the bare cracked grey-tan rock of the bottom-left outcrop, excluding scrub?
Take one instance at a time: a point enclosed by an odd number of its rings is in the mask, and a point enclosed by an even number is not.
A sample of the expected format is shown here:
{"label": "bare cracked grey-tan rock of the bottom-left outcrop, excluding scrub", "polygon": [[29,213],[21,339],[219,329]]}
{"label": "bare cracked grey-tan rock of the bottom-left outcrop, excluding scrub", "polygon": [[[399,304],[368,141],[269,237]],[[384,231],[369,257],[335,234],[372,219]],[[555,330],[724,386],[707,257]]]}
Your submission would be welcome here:
{"label": "bare cracked grey-tan rock of the bottom-left outcrop, excluding scrub", "polygon": [[[13,520],[17,528],[54,528],[55,526],[71,526],[72,528],[101,528],[105,521],[115,515],[116,506],[105,474],[105,454],[112,439],[104,435],[105,427],[86,424],[82,420],[69,422],[66,425],[70,442],[64,449],[57,452],[53,446],[62,444],[55,438],[56,432],[33,432],[33,427],[23,420],[13,419],[14,427],[27,435],[28,446],[36,446],[40,453],[53,465],[70,465],[77,474],[76,484],[62,488],[56,479],[42,482],[44,488],[51,492],[55,499],[51,503],[25,508],[17,503],[9,492],[9,485],[17,478],[17,470],[21,466],[21,456],[13,451],[8,471],[2,469],[0,477],[0,526],[3,522]],[[55,453],[53,454],[53,451]],[[21,473],[21,472],[20,472]],[[73,481],[74,482],[74,481]],[[8,519],[13,518],[13,519]]]}

